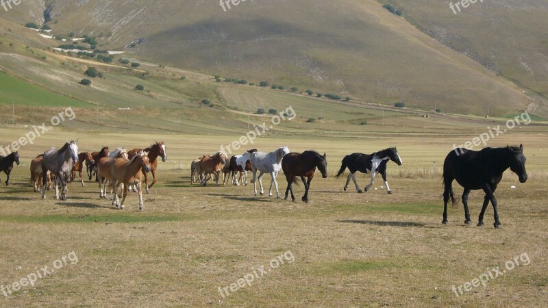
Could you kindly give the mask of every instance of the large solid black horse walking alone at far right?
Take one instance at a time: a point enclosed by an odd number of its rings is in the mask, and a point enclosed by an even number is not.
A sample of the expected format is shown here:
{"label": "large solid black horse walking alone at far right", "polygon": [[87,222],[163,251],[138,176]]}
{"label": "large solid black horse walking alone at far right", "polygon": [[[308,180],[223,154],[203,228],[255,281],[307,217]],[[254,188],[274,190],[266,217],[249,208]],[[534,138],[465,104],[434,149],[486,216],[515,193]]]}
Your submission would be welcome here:
{"label": "large solid black horse walking alone at far right", "polygon": [[495,190],[502,179],[502,174],[508,168],[518,175],[519,181],[527,181],[525,171],[525,156],[523,155],[523,144],[518,147],[506,146],[506,148],[485,148],[482,151],[471,151],[466,149],[455,149],[449,152],[443,164],[443,224],[447,224],[447,202],[449,197],[453,205],[456,199],[453,196],[453,180],[464,187],[462,193],[462,204],[464,205],[465,224],[472,224],[468,210],[468,196],[471,190],[484,190],[485,198],[482,211],[479,213],[477,227],[484,225],[484,214],[489,205],[493,205],[495,212],[495,228],[501,228],[499,214],[497,212],[497,199]]}

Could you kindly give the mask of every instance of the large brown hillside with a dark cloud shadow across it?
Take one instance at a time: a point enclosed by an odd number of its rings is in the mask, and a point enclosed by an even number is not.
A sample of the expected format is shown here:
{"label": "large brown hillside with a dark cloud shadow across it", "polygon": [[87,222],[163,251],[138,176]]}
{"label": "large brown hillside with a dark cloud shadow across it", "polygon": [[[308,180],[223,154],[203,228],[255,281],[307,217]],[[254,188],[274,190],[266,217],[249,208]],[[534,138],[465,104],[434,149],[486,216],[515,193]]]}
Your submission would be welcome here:
{"label": "large brown hillside with a dark cloud shadow across it", "polygon": [[[249,1],[227,12],[216,1],[31,0],[12,11],[43,22],[36,3],[49,8],[57,36],[99,36],[98,48],[200,73],[460,114],[546,113],[529,93],[373,0]],[[14,16],[5,18],[24,20]]]}

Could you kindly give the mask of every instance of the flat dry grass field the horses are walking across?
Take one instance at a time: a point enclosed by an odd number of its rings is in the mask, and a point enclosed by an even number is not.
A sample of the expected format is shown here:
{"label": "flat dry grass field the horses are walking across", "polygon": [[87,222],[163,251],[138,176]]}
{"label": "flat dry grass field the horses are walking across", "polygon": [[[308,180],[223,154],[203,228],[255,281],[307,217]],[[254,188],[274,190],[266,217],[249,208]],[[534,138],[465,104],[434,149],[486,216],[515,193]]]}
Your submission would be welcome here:
{"label": "flat dry grass field the horses are walking across", "polygon": [[[526,306],[548,305],[546,195],[548,149],[545,127],[523,127],[490,145],[525,144],[530,179],[520,184],[507,172],[496,196],[503,229],[463,224],[462,206],[443,212],[438,168],[453,143],[474,136],[369,133],[352,138],[293,135],[257,140],[260,150],[289,146],[291,151],[327,152],[329,178],[312,181],[311,203],[253,197],[253,188],[190,185],[190,159],[218,151],[233,136],[74,133],[55,130],[25,146],[12,185],[0,187],[0,278],[21,281],[44,266],[71,255],[73,261],[34,286],[21,287],[2,306],[192,306],[192,307],[379,307],[379,306]],[[3,128],[8,140],[25,129]],[[168,162],[160,163],[159,182],[138,211],[136,194],[125,210],[99,198],[96,183],[69,184],[69,200],[47,200],[29,185],[30,159],[49,146],[80,138],[81,151],[103,144],[132,149],[153,140],[167,144]],[[345,179],[334,179],[345,154],[398,147],[403,166],[388,165],[394,194],[382,189],[358,194]],[[5,181],[5,175],[0,175]],[[283,194],[286,183],[279,175]],[[263,179],[266,189],[270,178]],[[363,187],[366,179],[361,175]],[[515,189],[510,187],[515,185]],[[295,188],[297,198],[302,185]],[[462,188],[456,188],[460,194]],[[471,194],[473,222],[483,195]],[[475,225],[475,224],[474,224]],[[526,253],[527,255],[523,255]],[[77,257],[77,262],[75,258]],[[278,256],[283,256],[278,258]],[[291,258],[286,258],[292,256]],[[486,287],[456,296],[452,287],[471,282],[517,259],[520,266],[493,277]],[[525,257],[530,262],[525,266]],[[279,264],[282,260],[284,264]],[[289,261],[290,260],[290,261]],[[74,263],[74,264],[73,264]],[[271,266],[271,264],[273,266]],[[260,279],[253,277],[264,266]],[[259,275],[260,276],[260,275]],[[242,283],[244,277],[249,285]],[[237,283],[243,287],[238,287]],[[230,285],[234,292],[230,291]],[[230,295],[219,292],[228,287]],[[237,289],[237,290],[236,290]]]}

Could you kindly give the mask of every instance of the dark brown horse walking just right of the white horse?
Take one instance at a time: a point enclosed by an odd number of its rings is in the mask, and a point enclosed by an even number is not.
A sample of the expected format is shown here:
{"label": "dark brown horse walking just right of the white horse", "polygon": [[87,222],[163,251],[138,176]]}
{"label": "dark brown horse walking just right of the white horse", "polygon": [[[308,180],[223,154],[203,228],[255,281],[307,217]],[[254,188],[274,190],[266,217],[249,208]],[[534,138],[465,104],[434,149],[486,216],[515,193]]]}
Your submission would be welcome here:
{"label": "dark brown horse walking just right of the white horse", "polygon": [[[316,151],[304,151],[302,154],[289,153],[282,160],[282,170],[287,179],[286,200],[289,192],[291,192],[291,199],[295,202],[295,195],[293,194],[293,183],[296,183],[297,177],[301,177],[301,181],[304,183],[304,196],[302,201],[308,203],[308,191],[310,190],[310,182],[314,178],[314,172],[316,168],[320,170],[322,177],[327,178],[327,155],[323,156]],[[305,181],[305,177],[307,180]]]}

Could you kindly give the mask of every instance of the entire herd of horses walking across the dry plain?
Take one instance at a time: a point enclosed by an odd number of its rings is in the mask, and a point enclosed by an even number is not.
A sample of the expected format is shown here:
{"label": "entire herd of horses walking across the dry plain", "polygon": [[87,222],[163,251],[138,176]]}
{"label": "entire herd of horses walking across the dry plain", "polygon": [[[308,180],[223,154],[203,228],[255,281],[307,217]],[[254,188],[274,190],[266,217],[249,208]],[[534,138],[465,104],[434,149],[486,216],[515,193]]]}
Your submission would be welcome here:
{"label": "entire herd of horses walking across the dry plain", "polygon": [[[31,162],[31,181],[34,184],[35,192],[42,192],[42,198],[46,198],[46,190],[55,190],[54,198],[60,198],[66,201],[66,184],[74,181],[76,173],[79,175],[79,181],[84,186],[82,172],[84,162],[88,179],[91,181],[95,175],[99,183],[99,195],[101,198],[107,198],[106,190],[110,190],[109,198],[112,205],[123,209],[125,198],[128,191],[138,192],[139,209],[143,210],[142,203],[142,182],[145,182],[145,190],[150,192],[150,188],[156,183],[156,169],[158,166],[158,157],[162,162],[166,162],[166,146],[164,142],[155,142],[145,149],[133,149],[126,151],[125,148],[117,148],[109,151],[104,146],[101,151],[88,153],[78,152],[77,141],[66,141],[59,149],[54,148],[45,151],[32,159]],[[291,194],[292,201],[295,202],[292,184],[298,183],[297,178],[301,179],[305,187],[305,193],[301,200],[309,202],[308,193],[310,192],[310,182],[314,178],[316,169],[321,172],[322,177],[327,178],[327,155],[321,155],[316,151],[305,151],[303,153],[290,153],[287,146],[280,146],[270,153],[260,152],[256,149],[246,151],[242,155],[228,157],[223,152],[217,152],[213,155],[202,155],[191,163],[191,183],[199,182],[206,186],[208,181],[215,181],[219,185],[221,175],[223,175],[223,185],[232,181],[233,185],[247,185],[247,171],[253,174],[253,192],[257,196],[256,182],[259,182],[260,194],[264,195],[262,177],[266,174],[271,175],[271,185],[269,196],[273,196],[272,188],[276,190],[276,197],[280,198],[278,183],[276,181],[280,170],[284,171],[287,181],[285,199]],[[470,212],[468,207],[468,198],[471,190],[483,190],[485,192],[482,211],[479,214],[478,227],[484,225],[483,219],[486,208],[489,203],[493,205],[495,228],[501,227],[497,211],[497,199],[494,196],[497,185],[502,179],[503,172],[512,170],[519,177],[521,183],[527,181],[527,172],[525,170],[525,155],[523,155],[523,144],[520,146],[506,146],[501,148],[485,148],[481,151],[471,151],[468,149],[456,149],[449,152],[443,165],[443,224],[447,224],[447,203],[449,198],[453,206],[457,204],[453,195],[453,181],[457,181],[463,188],[462,204],[464,205],[465,224],[471,224]],[[371,189],[377,174],[384,180],[384,188],[388,194],[392,194],[388,181],[386,179],[386,166],[388,162],[395,162],[399,166],[403,164],[401,157],[395,147],[384,149],[369,155],[363,153],[353,153],[343,158],[336,178],[343,175],[345,170],[349,170],[344,190],[352,180],[356,185],[358,193],[362,189],[356,180],[356,172],[362,172],[371,177],[371,181],[365,186],[364,191]],[[5,172],[8,179],[5,185],[9,185],[10,174],[14,164],[19,164],[18,152],[11,153],[3,157],[0,156],[0,172]],[[152,181],[149,184],[148,173],[152,174]],[[61,195],[59,196],[59,190]],[[119,192],[120,191],[120,192]],[[123,198],[119,201],[119,198]]]}

